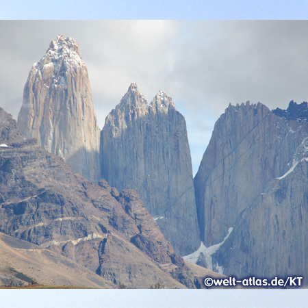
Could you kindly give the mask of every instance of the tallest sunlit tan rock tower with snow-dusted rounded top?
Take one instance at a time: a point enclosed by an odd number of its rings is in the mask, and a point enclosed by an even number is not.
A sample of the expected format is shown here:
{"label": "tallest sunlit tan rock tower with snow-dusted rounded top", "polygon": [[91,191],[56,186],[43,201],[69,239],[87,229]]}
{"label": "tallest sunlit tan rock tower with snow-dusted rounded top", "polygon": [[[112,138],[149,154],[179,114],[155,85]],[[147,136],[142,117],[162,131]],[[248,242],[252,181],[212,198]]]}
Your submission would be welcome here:
{"label": "tallest sunlit tan rock tower with snow-dusted rounded top", "polygon": [[57,36],[29,73],[18,129],[63,157],[74,172],[99,180],[99,127],[86,64],[72,38]]}

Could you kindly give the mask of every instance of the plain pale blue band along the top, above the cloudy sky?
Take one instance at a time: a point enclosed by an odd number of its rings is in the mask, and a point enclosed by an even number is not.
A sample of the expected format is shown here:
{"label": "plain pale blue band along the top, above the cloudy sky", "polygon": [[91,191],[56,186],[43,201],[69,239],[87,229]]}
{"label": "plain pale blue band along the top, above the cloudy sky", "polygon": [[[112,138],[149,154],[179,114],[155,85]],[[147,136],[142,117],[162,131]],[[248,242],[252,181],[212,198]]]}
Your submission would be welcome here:
{"label": "plain pale blue band along the top, above the cloudy sky", "polygon": [[1,0],[1,19],[306,19],[307,0]]}

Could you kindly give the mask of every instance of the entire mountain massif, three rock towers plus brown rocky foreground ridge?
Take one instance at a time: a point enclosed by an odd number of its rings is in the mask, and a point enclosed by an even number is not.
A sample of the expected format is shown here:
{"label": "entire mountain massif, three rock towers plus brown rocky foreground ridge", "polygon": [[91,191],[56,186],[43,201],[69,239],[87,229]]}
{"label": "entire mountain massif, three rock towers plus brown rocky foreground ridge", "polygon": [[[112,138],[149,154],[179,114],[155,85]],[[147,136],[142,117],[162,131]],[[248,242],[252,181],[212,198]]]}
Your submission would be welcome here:
{"label": "entire mountain massif, three rock towers plus brown rocky foreground ridge", "polygon": [[0,138],[3,251],[27,241],[101,287],[201,287],[205,268],[308,284],[305,102],[230,104],[193,179],[172,99],[147,103],[131,84],[100,131],[78,44],[58,36],[29,73],[18,128],[0,110]]}

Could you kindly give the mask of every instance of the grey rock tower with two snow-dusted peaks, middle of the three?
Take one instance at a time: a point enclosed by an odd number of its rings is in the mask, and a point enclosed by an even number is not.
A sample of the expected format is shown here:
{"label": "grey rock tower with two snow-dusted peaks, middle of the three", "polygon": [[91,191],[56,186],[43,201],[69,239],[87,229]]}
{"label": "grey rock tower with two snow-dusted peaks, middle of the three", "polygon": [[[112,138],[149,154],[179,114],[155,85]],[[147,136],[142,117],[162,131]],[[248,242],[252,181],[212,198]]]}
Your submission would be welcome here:
{"label": "grey rock tower with two snow-dusted peaks, middle of the three", "polygon": [[118,190],[137,190],[177,253],[199,246],[185,120],[165,92],[148,104],[131,84],[101,131],[101,168]]}

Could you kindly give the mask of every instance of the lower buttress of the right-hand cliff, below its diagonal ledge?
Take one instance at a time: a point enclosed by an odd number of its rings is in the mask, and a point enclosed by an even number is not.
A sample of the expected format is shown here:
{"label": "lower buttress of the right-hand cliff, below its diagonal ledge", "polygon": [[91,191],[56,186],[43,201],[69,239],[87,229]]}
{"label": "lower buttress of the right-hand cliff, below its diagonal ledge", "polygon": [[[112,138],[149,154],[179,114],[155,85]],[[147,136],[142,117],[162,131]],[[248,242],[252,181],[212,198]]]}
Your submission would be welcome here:
{"label": "lower buttress of the right-hand cliff, below its diagonal ledge", "polygon": [[214,258],[238,277],[303,277],[308,285],[307,196],[304,159],[283,179],[272,179],[240,214]]}

